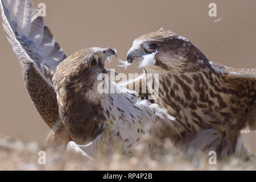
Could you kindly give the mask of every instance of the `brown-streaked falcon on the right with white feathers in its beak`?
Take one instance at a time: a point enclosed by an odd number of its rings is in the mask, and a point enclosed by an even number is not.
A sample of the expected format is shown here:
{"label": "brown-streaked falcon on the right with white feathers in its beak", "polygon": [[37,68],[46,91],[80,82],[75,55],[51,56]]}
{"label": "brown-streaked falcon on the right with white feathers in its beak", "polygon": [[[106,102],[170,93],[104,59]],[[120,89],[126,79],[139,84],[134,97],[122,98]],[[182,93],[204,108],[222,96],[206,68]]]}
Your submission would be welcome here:
{"label": "brown-streaked falcon on the right with white feathers in its beak", "polygon": [[256,69],[209,61],[188,39],[162,28],[135,39],[127,61],[159,73],[155,102],[182,122],[183,139],[171,139],[183,151],[225,157],[235,151],[242,129],[256,129]]}

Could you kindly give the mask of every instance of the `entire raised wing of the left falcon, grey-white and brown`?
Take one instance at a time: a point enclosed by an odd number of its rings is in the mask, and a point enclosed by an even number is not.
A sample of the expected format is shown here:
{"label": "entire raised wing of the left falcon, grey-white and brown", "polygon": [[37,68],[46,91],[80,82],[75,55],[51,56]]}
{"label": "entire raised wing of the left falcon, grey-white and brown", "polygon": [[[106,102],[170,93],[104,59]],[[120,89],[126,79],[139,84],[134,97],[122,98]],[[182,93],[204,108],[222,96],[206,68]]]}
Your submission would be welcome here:
{"label": "entire raised wing of the left falcon, grey-white and brown", "polygon": [[47,125],[64,136],[52,76],[67,56],[38,10],[32,9],[31,0],[1,0],[0,7],[6,38],[18,56],[27,92]]}

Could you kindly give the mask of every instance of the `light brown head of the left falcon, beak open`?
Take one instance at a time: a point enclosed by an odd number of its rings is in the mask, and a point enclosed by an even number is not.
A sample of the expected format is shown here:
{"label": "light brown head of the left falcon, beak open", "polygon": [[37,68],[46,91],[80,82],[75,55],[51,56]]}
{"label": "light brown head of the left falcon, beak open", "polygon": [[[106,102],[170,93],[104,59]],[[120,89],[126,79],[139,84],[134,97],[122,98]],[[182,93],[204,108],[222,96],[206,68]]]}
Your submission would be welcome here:
{"label": "light brown head of the left falcon, beak open", "polygon": [[78,88],[93,86],[99,74],[109,73],[104,68],[105,60],[116,55],[112,48],[93,47],[77,51],[57,66],[53,82],[76,83]]}

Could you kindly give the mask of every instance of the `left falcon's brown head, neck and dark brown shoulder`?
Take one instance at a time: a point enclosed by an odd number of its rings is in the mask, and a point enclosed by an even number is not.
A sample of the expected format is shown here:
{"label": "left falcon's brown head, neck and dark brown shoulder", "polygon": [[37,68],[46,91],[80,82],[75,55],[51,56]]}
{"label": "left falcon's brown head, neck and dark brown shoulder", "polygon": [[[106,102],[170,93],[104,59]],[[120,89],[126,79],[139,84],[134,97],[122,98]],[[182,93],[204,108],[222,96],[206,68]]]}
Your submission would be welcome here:
{"label": "left falcon's brown head, neck and dark brown shoulder", "polygon": [[90,142],[102,132],[101,107],[97,93],[97,77],[108,73],[105,60],[116,56],[111,48],[88,48],[73,53],[56,68],[53,86],[57,95],[61,122],[67,127],[72,140],[79,144]]}

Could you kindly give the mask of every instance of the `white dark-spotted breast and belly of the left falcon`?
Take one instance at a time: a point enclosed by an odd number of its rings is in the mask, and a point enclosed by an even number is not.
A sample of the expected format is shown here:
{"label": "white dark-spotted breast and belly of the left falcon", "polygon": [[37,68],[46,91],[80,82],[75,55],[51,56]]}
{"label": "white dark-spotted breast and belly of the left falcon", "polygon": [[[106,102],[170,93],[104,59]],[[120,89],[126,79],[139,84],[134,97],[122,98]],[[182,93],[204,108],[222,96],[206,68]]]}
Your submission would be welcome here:
{"label": "white dark-spotted breast and belly of the left falcon", "polygon": [[[102,114],[106,118],[106,127],[112,135],[118,133],[112,137],[120,138],[123,141],[123,152],[133,151],[139,140],[148,136],[147,142],[151,146],[161,146],[162,143],[159,138],[156,138],[156,133],[166,127],[170,127],[175,134],[180,134],[178,128],[181,126],[175,117],[167,114],[166,110],[161,109],[157,104],[141,100],[139,94],[134,90],[126,89],[110,81],[111,86],[115,88],[115,93],[91,92],[90,94],[94,94],[94,96],[86,96],[86,98],[91,99],[90,102],[96,102],[98,98],[101,98],[100,104]],[[112,109],[110,110],[109,107]],[[81,154],[80,149],[82,149],[85,154],[93,155],[98,150],[100,142],[101,139],[98,138],[86,146],[73,145],[73,151],[78,151],[77,153]],[[151,148],[150,152],[155,150],[156,148]],[[89,156],[93,157],[92,155]]]}

